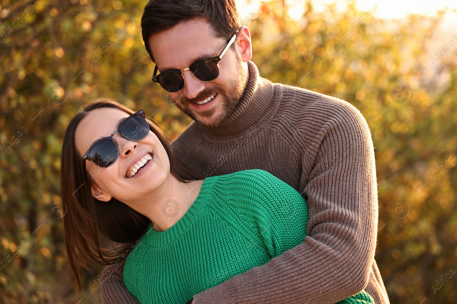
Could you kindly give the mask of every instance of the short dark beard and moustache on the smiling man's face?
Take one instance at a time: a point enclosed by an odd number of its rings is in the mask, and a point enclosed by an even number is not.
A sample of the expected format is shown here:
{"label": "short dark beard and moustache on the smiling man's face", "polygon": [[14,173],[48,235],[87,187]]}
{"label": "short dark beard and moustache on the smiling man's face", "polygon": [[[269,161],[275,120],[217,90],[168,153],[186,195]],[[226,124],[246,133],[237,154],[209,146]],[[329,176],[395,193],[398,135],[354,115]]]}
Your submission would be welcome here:
{"label": "short dark beard and moustache on the smiling man's face", "polygon": [[[204,127],[216,127],[219,124],[223,123],[228,119],[236,110],[239,105],[239,101],[244,93],[244,88],[246,86],[246,81],[248,79],[248,74],[244,70],[242,62],[237,55],[238,62],[238,79],[234,79],[232,82],[228,83],[227,90],[216,84],[210,88],[205,88],[202,92],[198,94],[196,98],[189,99],[186,96],[181,94],[179,102],[176,103],[176,106],[191,119],[197,121],[199,124],[202,124]],[[212,121],[210,124],[207,124],[205,121],[202,121],[199,117],[209,118],[213,116],[216,112],[216,107],[207,109],[205,111],[199,111],[196,115],[193,110],[190,109],[189,103],[201,102],[214,94],[218,93],[218,103],[221,103],[222,109],[219,117]]]}

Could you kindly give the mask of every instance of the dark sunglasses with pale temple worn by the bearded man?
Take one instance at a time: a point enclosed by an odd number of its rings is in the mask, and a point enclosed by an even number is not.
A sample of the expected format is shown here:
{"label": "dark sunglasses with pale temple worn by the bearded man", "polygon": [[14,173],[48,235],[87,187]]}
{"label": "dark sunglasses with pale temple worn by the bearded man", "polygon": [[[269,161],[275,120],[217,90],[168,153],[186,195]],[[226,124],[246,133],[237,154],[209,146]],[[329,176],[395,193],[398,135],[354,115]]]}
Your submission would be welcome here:
{"label": "dark sunglasses with pale temple worn by the bearded man", "polygon": [[185,69],[170,70],[155,76],[157,74],[156,65],[154,68],[152,81],[158,82],[167,92],[175,93],[181,91],[184,88],[184,77],[182,72],[186,70],[190,70],[192,74],[194,74],[194,76],[202,82],[208,82],[216,79],[219,76],[218,62],[222,59],[225,52],[227,52],[228,48],[232,45],[233,41],[235,41],[235,38],[236,33],[232,36],[230,41],[228,41],[227,45],[224,47],[219,56],[198,60],[197,62],[192,63],[190,67]]}

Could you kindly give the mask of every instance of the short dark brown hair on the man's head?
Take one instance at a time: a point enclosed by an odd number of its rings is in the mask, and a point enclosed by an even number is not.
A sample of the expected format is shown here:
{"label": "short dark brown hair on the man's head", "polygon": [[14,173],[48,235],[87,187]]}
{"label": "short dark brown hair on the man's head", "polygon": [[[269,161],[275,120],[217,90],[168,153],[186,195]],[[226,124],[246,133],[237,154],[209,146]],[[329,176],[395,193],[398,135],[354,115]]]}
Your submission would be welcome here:
{"label": "short dark brown hair on the man's head", "polygon": [[229,39],[241,26],[234,0],[150,0],[141,18],[141,34],[153,62],[149,37],[194,18],[206,19],[215,38]]}

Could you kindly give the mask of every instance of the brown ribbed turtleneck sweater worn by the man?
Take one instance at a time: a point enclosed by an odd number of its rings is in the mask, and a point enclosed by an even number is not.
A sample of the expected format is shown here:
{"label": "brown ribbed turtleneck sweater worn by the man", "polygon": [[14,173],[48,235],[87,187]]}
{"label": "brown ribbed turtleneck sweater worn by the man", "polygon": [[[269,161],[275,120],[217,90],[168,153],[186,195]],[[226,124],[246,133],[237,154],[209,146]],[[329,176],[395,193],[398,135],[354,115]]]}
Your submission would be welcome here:
{"label": "brown ribbed turtleneck sweater worn by the man", "polygon": [[[234,114],[215,128],[193,122],[171,145],[207,176],[262,169],[287,182],[308,202],[308,236],[265,265],[196,294],[195,303],[333,304],[363,289],[376,304],[389,303],[374,260],[377,183],[367,122],[350,103],[272,83],[253,62],[248,67]],[[103,303],[138,303],[122,269],[105,268]]]}

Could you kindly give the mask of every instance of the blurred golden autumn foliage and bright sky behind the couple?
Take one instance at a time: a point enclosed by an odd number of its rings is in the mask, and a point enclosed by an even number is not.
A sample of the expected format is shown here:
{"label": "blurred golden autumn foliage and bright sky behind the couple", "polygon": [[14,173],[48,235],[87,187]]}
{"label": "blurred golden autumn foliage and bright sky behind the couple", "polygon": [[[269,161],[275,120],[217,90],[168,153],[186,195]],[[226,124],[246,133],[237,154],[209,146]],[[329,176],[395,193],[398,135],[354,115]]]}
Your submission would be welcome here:
{"label": "blurred golden autumn foliage and bright sky behind the couple", "polygon": [[[333,2],[238,1],[252,60],[366,118],[391,303],[457,303],[455,1]],[[0,303],[101,303],[102,268],[81,270],[78,294],[64,247],[60,153],[77,107],[116,99],[170,140],[191,122],[151,81],[146,3],[0,0]]]}

